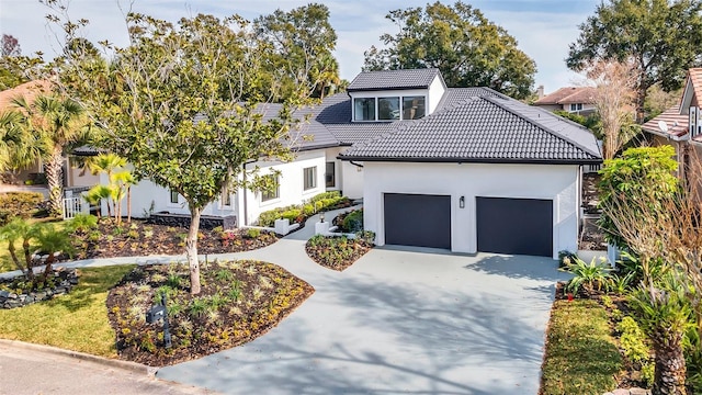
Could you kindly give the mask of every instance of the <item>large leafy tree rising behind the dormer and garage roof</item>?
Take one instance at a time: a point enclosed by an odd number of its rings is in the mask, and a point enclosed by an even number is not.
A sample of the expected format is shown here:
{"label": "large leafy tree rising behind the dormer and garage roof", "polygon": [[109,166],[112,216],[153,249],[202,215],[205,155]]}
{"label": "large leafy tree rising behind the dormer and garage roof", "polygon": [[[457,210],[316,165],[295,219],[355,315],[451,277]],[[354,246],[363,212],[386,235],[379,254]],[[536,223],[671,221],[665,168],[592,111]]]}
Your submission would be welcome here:
{"label": "large leafy tree rising behind the dormer and garage roof", "polygon": [[385,48],[365,52],[364,70],[435,67],[450,87],[492,88],[516,99],[530,95],[536,64],[507,31],[480,10],[457,1],[390,11],[400,29],[383,34]]}

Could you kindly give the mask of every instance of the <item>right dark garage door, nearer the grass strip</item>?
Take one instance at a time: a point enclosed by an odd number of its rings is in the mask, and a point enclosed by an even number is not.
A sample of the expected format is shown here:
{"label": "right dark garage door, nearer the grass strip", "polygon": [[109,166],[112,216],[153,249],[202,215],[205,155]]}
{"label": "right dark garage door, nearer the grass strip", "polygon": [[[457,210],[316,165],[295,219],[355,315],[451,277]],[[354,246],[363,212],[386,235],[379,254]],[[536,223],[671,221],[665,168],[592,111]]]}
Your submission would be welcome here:
{"label": "right dark garage door, nearer the grass strip", "polygon": [[553,256],[553,201],[476,198],[478,251]]}

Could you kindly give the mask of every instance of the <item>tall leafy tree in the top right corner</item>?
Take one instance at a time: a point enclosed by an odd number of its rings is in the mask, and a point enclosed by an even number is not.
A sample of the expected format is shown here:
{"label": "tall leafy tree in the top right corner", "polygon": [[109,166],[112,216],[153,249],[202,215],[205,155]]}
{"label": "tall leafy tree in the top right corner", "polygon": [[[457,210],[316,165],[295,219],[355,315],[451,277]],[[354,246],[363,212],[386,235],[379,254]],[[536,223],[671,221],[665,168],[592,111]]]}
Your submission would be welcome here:
{"label": "tall leafy tree in the top right corner", "polygon": [[633,59],[636,121],[644,120],[648,88],[680,88],[688,68],[700,65],[702,1],[610,0],[580,24],[566,65],[581,70],[590,60]]}

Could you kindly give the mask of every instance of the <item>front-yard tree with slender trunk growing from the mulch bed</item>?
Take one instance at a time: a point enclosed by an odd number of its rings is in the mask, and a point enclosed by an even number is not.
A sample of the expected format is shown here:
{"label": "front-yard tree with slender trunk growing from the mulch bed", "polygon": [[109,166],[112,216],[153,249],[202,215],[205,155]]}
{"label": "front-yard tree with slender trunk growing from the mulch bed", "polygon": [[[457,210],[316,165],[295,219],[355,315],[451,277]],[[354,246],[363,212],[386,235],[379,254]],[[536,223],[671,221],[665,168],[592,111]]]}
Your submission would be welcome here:
{"label": "front-yard tree with slender trunk growing from the mulch bed", "polygon": [[[262,157],[290,159],[292,103],[305,103],[307,78],[280,98],[267,81],[288,78],[268,67],[269,43],[239,16],[182,19],[177,25],[147,15],[127,16],[131,45],[114,48],[115,64],[73,59],[61,74],[104,133],[103,145],[134,165],[137,178],[178,192],[191,224],[185,240],[191,293],[197,294],[197,232],[203,208],[225,188],[262,187],[241,177]],[[111,81],[105,83],[105,81]]]}

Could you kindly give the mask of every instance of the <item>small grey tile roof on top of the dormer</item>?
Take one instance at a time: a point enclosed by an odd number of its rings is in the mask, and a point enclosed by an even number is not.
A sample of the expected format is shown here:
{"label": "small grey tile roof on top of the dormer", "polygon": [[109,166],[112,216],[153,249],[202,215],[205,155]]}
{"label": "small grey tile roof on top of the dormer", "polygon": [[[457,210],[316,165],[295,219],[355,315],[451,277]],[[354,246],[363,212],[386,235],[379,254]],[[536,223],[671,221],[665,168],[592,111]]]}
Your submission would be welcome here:
{"label": "small grey tile roof on top of the dormer", "polygon": [[440,76],[440,74],[439,69],[435,68],[364,71],[351,81],[347,90],[353,92],[361,90],[422,89],[429,88],[429,84],[437,76]]}

